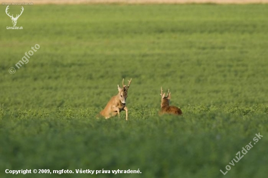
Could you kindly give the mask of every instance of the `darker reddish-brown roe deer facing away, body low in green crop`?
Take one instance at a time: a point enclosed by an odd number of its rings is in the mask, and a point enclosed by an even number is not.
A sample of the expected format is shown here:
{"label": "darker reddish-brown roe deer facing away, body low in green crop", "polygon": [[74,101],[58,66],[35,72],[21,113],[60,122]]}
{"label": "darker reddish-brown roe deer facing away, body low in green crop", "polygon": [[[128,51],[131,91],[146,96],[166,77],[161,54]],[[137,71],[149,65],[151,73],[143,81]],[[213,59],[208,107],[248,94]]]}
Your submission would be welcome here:
{"label": "darker reddish-brown roe deer facing away, body low in green crop", "polygon": [[166,97],[166,93],[163,94],[163,90],[161,87],[161,110],[159,111],[159,115],[162,114],[174,114],[174,115],[182,115],[182,111],[178,107],[170,106],[171,92],[170,89],[168,91],[168,96]]}

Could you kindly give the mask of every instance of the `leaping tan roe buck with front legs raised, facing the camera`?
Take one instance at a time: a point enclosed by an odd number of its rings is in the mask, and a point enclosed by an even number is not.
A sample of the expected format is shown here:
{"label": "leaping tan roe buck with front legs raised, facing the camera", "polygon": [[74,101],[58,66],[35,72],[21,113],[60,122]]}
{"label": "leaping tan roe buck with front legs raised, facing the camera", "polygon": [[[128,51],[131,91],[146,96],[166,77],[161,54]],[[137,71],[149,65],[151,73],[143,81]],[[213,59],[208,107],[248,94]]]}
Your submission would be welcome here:
{"label": "leaping tan roe buck with front legs raised, facing the camera", "polygon": [[116,116],[117,114],[119,116],[119,113],[122,110],[125,110],[126,120],[128,120],[128,108],[126,107],[126,99],[128,97],[128,89],[129,89],[131,80],[132,79],[129,80],[129,85],[126,86],[124,85],[124,79],[123,79],[123,82],[122,82],[123,88],[117,85],[118,94],[113,96],[111,100],[107,103],[106,107],[99,113],[100,115],[105,117],[105,119]]}

